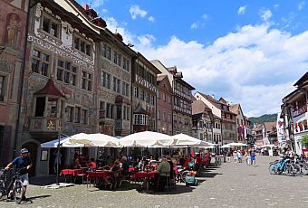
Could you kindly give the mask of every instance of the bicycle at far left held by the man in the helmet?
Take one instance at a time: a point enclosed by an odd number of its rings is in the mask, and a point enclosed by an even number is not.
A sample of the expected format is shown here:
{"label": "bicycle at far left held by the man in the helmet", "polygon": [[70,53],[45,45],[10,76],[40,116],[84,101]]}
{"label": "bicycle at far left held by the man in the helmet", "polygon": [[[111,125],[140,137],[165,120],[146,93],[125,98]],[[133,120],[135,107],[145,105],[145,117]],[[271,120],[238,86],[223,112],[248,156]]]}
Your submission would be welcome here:
{"label": "bicycle at far left held by the man in the helmet", "polygon": [[[22,198],[22,192],[23,192],[23,182],[19,179],[20,172],[24,168],[17,169],[14,172],[14,175],[9,178],[9,173],[5,169],[0,171],[0,200],[2,197],[6,196],[6,200],[11,198],[11,194],[13,194],[14,202],[15,203],[21,203]],[[13,193],[11,192],[13,190]]]}

